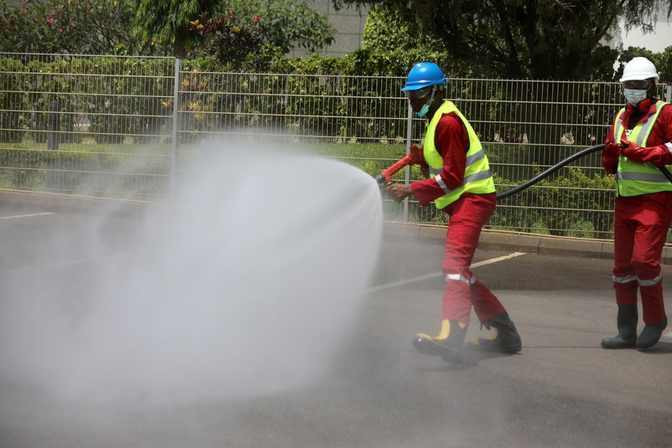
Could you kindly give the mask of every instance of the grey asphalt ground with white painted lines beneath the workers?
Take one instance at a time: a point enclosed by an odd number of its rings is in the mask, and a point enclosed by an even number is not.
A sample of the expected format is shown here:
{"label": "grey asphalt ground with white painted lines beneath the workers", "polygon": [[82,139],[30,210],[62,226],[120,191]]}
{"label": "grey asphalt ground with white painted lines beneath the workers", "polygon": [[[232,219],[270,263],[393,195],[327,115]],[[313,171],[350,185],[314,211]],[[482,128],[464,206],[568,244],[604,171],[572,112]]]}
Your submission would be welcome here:
{"label": "grey asphalt ground with white painted lines beneath the workers", "polygon": [[[94,260],[78,244],[92,220],[1,205],[0,280],[49,281],[64,266],[82,275],[118,256],[115,242],[133,222],[98,223],[109,240]],[[49,238],[56,228],[65,235],[57,243]],[[465,347],[464,362],[449,365],[411,345],[415,333],[438,333],[442,252],[383,240],[357,322],[318,381],[249,399],[126,411],[0,381],[0,447],[672,446],[672,328],[645,352],[600,347],[616,334],[612,262],[478,251],[473,272],[508,309],[523,349],[486,355]],[[669,293],[672,266],[663,273]],[[666,304],[670,313],[672,300]],[[472,315],[467,337],[479,331]]]}

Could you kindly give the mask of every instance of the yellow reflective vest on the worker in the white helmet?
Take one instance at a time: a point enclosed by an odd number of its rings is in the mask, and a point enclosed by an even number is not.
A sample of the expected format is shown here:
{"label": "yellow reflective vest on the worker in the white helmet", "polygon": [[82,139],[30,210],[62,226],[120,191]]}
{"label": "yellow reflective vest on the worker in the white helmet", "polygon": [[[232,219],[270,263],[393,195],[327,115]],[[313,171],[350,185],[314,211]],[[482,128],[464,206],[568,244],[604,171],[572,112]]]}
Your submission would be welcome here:
{"label": "yellow reflective vest on the worker in the white helmet", "polygon": [[[656,102],[656,112],[632,128],[627,140],[646,148],[653,125],[656,124],[660,111],[667,104],[667,102],[660,100]],[[614,135],[612,137],[614,137],[616,143],[621,142],[621,136],[625,130],[623,113],[625,113],[625,109],[620,109],[614,121]],[[672,151],[672,144],[666,143],[665,145]],[[668,170],[672,169],[672,166],[668,165],[667,168]],[[648,162],[640,164],[623,155],[618,157],[618,171],[616,172],[616,192],[618,192],[618,196],[638,196],[639,194],[661,191],[672,191],[672,183],[662,175],[656,166]]]}

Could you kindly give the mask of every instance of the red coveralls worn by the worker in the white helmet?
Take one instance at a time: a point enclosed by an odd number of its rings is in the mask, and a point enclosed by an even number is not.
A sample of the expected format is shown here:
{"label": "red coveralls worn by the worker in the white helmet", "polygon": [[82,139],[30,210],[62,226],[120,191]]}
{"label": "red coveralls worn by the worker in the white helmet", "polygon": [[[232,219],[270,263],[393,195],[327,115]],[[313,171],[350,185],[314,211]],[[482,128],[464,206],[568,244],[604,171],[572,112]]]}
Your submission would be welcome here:
{"label": "red coveralls worn by the worker in the white helmet", "polygon": [[[634,128],[647,116],[656,112],[656,104],[642,113],[626,109],[623,114],[625,129]],[[615,118],[615,117],[614,117]],[[621,141],[625,140],[621,136]],[[665,143],[672,142],[672,106],[662,107],[658,120],[649,134],[647,148],[630,156],[633,161],[650,162],[655,166],[672,164],[672,153]],[[614,143],[614,124],[606,143]],[[614,174],[618,159],[609,159],[603,153],[605,170]],[[660,278],[660,256],[672,223],[672,192],[640,194],[633,197],[616,197],[614,213],[614,281],[616,304],[636,305],[637,289],[642,297],[644,323],[658,324],[665,317],[665,306]]]}

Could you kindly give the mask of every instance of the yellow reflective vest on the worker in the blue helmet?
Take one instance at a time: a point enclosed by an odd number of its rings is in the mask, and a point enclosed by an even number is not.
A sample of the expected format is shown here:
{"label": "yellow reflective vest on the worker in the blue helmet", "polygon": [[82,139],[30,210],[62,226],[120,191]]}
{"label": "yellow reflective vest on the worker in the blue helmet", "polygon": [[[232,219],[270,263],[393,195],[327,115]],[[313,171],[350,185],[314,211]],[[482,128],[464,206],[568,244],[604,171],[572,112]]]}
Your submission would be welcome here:
{"label": "yellow reflective vest on the worker in the blue helmet", "polygon": [[[443,172],[443,157],[436,150],[434,146],[434,133],[436,132],[436,126],[438,122],[448,113],[455,113],[464,128],[467,129],[467,135],[469,135],[469,151],[467,152],[467,168],[464,170],[464,182],[458,188],[450,190],[443,178],[441,177],[441,172]],[[427,133],[425,134],[425,146],[423,147],[423,155],[429,165],[429,176],[436,180],[438,186],[445,192],[445,194],[434,200],[436,208],[442,209],[450,205],[451,203],[460,199],[460,196],[464,192],[471,192],[474,194],[486,194],[495,192],[495,183],[493,182],[492,172],[490,171],[490,165],[488,163],[488,157],[485,155],[483,147],[481,145],[478,136],[473,131],[471,124],[467,119],[458,111],[458,108],[455,107],[453,102],[446,100],[441,107],[438,108],[432,120],[429,121],[427,125]]]}

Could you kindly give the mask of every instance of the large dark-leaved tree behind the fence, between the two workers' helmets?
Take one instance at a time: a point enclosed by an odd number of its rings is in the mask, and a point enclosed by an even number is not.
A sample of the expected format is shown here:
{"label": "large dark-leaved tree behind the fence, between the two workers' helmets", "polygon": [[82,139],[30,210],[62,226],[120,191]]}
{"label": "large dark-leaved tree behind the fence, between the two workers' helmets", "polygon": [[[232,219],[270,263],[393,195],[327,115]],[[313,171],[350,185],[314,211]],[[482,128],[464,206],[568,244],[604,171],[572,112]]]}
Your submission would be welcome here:
{"label": "large dark-leaved tree behind the fence, between the two workers' helmets", "polygon": [[672,0],[332,0],[345,5],[385,5],[410,17],[449,56],[475,74],[501,78],[610,79],[617,50],[603,45],[618,18],[627,27],[651,27]]}

